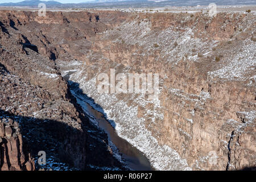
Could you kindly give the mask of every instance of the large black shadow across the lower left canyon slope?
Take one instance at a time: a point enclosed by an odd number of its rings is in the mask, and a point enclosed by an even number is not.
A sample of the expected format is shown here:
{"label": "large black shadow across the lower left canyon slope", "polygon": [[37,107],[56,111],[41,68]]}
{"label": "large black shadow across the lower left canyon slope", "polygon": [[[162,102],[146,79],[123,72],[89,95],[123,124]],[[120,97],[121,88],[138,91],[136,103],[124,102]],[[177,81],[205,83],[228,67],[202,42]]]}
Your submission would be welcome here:
{"label": "large black shadow across the lower left canyon slope", "polygon": [[[0,117],[11,118],[21,126],[22,149],[26,162],[28,160],[28,153],[33,158],[36,158],[39,151],[45,151],[47,158],[51,156],[51,158],[55,159],[55,162],[66,163],[70,168],[95,170],[91,166],[97,166],[125,169],[117,160],[113,159],[112,154],[108,151],[106,135],[89,124],[86,125],[89,128],[86,129],[84,126],[83,129],[94,130],[93,134],[75,129],[60,121],[23,117],[2,109],[0,109]],[[2,138],[0,143],[0,154],[2,156],[4,152],[2,146],[5,145],[6,148],[6,142],[7,140]],[[20,152],[18,151],[18,156],[20,156]],[[5,151],[5,154],[7,165],[10,167],[11,159],[8,155],[8,149]],[[0,169],[2,165],[3,158],[1,157]],[[21,163],[20,165],[24,166]],[[39,169],[40,166],[36,164],[36,168]]]}

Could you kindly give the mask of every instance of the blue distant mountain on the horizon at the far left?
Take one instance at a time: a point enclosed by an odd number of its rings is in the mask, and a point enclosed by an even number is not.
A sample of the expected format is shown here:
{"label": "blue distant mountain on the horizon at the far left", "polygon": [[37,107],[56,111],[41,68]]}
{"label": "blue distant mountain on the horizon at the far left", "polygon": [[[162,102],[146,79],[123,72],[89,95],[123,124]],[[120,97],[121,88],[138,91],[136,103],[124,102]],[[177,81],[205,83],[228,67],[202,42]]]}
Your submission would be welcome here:
{"label": "blue distant mountain on the horizon at the far left", "polygon": [[61,5],[61,3],[57,1],[28,0],[17,3],[0,3],[0,6],[38,6],[39,3],[45,3],[46,5]]}

